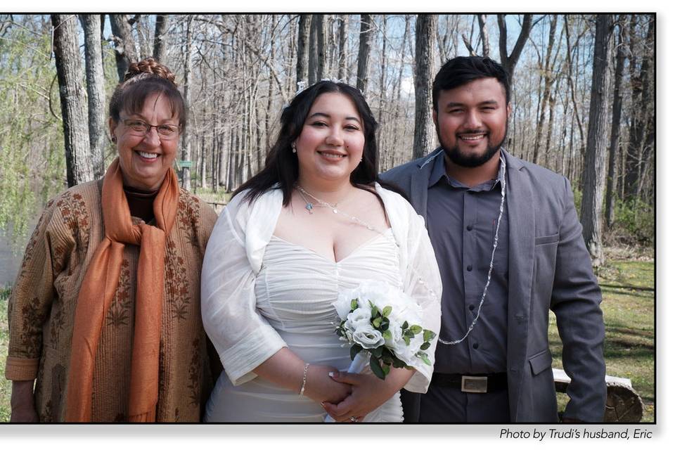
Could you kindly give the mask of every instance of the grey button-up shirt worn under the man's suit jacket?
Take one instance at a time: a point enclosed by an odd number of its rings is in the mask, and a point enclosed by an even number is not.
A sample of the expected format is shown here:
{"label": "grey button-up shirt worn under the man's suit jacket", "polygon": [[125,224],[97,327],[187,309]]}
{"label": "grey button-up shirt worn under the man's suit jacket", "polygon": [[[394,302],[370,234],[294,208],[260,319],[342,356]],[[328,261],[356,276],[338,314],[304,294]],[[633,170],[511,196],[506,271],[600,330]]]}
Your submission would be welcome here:
{"label": "grey button-up shirt worn under the man's suit jacket", "polygon": [[[503,155],[502,155],[502,158]],[[501,203],[503,170],[496,180],[473,188],[446,174],[443,155],[429,179],[427,226],[443,281],[439,338],[458,340],[479,311]],[[438,343],[435,372],[506,372],[508,303],[508,219],[506,203],[487,295],[480,318],[458,345]]]}

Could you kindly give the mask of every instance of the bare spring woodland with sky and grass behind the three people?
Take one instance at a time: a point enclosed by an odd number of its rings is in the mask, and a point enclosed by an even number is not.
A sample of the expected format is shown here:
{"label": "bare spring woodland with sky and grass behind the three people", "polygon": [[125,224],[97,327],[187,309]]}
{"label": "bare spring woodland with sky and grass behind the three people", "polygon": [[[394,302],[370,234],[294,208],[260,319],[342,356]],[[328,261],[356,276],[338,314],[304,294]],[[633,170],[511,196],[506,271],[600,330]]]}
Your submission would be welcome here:
{"label": "bare spring woodland with sky and grass behind the three people", "polygon": [[176,73],[190,113],[175,168],[218,210],[264,164],[299,82],[364,92],[385,171],[437,146],[442,63],[491,56],[512,77],[506,148],[572,181],[610,286],[606,353],[623,362],[608,373],[639,379],[653,419],[655,35],[655,15],[629,13],[0,14],[0,302],[46,201],[115,157],[106,111],[129,63],[154,56]]}

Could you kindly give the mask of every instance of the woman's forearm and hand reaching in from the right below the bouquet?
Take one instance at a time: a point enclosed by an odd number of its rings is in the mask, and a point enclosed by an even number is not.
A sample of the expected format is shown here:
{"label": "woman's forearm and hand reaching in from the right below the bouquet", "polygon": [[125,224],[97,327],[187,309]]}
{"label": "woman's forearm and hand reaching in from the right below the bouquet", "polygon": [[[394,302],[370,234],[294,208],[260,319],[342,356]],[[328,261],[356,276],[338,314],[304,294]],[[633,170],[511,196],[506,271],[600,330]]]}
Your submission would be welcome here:
{"label": "woman's forearm and hand reaching in from the right below the bouquet", "polygon": [[337,404],[325,402],[323,409],[336,422],[361,421],[404,387],[413,373],[407,369],[392,369],[385,380],[380,380],[372,374],[335,372],[333,380],[351,385],[352,394]]}

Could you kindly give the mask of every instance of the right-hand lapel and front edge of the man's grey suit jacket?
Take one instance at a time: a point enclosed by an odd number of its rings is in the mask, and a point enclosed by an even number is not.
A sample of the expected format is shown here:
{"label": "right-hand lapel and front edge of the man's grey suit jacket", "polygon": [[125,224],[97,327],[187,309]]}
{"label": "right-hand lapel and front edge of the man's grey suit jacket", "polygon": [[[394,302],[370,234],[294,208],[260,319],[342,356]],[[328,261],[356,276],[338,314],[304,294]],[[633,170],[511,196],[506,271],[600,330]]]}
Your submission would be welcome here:
{"label": "right-hand lapel and front edge of the man's grey suit jacket", "polygon": [[534,200],[532,184],[522,162],[508,155],[508,338],[506,361],[511,420],[518,420],[522,376],[527,366],[532,276],[534,271]]}

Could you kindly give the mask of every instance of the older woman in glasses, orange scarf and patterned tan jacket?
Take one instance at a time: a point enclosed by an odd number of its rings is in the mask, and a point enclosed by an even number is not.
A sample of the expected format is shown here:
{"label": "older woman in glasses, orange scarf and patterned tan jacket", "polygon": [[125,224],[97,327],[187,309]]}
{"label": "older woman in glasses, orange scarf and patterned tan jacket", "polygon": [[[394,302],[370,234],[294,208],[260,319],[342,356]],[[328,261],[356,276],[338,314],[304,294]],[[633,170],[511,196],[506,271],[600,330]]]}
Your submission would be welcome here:
{"label": "older woman in glasses, orange scarf and patterned tan jacket", "polygon": [[172,169],[185,116],[165,66],[132,64],[110,101],[118,158],[46,205],[9,302],[11,420],[200,420],[216,214]]}

